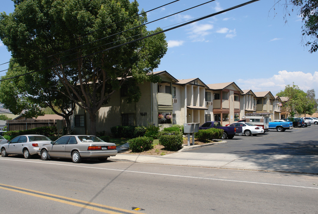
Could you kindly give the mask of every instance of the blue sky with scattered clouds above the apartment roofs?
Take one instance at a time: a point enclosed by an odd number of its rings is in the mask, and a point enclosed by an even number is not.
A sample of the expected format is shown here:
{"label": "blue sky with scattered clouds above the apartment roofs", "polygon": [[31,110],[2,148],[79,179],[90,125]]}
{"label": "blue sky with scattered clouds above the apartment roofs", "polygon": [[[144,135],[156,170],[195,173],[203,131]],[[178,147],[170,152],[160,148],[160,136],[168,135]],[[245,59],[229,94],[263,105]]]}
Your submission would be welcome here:
{"label": "blue sky with scattered clouds above the apartment roofs", "polygon": [[[147,11],[172,0],[139,0]],[[148,21],[190,8],[208,0],[180,0],[148,13]],[[277,0],[276,0],[277,1]],[[245,1],[217,0],[181,14],[151,23],[148,30],[171,25],[227,9]],[[205,84],[235,82],[242,90],[271,91],[275,95],[288,84],[305,92],[315,89],[318,97],[317,54],[303,46],[301,17],[274,0],[258,2],[166,32],[168,51],[156,71],[166,70],[177,79],[200,78]],[[290,10],[292,6],[289,6]],[[14,10],[11,0],[1,0],[0,11]],[[0,64],[10,53],[0,42]],[[8,64],[0,69],[8,68]],[[0,76],[4,72],[0,72]]]}

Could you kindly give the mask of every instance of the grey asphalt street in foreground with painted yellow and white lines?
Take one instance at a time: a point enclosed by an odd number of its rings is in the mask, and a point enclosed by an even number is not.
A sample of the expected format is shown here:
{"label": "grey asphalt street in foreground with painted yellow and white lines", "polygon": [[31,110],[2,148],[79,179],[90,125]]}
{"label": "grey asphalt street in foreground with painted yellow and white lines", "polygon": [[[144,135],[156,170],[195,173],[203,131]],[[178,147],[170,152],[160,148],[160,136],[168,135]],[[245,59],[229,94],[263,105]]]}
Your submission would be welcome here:
{"label": "grey asphalt street in foreground with painted yellow and white lines", "polygon": [[0,213],[318,213],[309,174],[21,156],[0,170]]}

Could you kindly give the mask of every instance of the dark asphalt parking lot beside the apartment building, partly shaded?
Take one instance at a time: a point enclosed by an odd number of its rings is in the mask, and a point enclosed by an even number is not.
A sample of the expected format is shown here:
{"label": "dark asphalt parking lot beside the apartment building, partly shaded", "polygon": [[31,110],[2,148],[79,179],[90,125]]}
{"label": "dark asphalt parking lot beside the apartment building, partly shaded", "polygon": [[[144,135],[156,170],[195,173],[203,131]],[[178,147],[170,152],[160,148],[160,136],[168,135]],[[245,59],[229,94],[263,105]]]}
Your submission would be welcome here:
{"label": "dark asphalt parking lot beside the apartment building, partly shaded", "polygon": [[234,136],[226,144],[201,147],[184,152],[228,154],[318,155],[318,125],[284,132],[270,130],[257,136]]}

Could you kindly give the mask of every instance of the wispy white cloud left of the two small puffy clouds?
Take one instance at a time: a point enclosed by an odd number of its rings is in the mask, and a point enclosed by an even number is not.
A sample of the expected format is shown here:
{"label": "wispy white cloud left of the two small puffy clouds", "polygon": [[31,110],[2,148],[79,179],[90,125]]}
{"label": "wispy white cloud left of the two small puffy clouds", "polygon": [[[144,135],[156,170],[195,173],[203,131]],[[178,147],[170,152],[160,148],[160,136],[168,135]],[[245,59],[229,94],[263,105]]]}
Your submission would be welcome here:
{"label": "wispy white cloud left of the two small puffy clouds", "polygon": [[213,24],[197,24],[195,22],[191,24],[190,32],[187,34],[190,35],[189,38],[192,39],[193,42],[204,42],[207,41],[205,37],[211,34],[209,31],[211,29],[213,29]]}

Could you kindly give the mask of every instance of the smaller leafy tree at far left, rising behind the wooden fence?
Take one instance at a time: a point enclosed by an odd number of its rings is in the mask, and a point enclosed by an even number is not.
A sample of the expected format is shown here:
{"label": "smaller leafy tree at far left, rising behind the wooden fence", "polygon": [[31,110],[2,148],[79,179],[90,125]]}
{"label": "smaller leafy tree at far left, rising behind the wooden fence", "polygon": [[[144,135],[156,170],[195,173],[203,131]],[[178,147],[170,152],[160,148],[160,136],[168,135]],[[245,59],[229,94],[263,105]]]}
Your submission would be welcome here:
{"label": "smaller leafy tree at far left, rising behind the wooden fence", "polygon": [[[19,66],[14,59],[9,68],[2,79],[28,73],[27,68]],[[69,117],[73,115],[75,103],[61,93],[63,90],[65,92],[65,87],[58,80],[52,79],[52,76],[52,73],[35,72],[1,81],[0,102],[12,113],[25,117],[44,115],[42,108],[49,107],[55,114],[64,117],[70,133],[72,130]]]}

